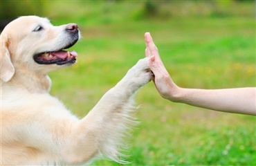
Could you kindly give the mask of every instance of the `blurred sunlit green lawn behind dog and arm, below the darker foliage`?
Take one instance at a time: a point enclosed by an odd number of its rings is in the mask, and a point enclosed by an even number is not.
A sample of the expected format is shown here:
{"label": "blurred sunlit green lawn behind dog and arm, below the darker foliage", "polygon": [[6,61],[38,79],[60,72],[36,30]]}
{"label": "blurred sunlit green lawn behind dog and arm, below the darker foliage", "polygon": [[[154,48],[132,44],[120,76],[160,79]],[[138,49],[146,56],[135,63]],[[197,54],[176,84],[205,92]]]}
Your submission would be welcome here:
{"label": "blurred sunlit green lawn behind dog and arm, below the darker foliage", "polygon": [[[82,19],[70,21],[81,24],[82,39],[73,46],[79,53],[78,62],[51,73],[51,93],[77,116],[85,116],[145,56],[147,31],[179,86],[255,86],[253,17],[188,17],[100,25],[86,25]],[[255,164],[255,117],[169,102],[158,95],[152,82],[138,92],[136,103],[141,105],[136,114],[140,124],[128,139],[130,147],[125,152],[130,165]],[[99,160],[93,165],[119,164]]]}

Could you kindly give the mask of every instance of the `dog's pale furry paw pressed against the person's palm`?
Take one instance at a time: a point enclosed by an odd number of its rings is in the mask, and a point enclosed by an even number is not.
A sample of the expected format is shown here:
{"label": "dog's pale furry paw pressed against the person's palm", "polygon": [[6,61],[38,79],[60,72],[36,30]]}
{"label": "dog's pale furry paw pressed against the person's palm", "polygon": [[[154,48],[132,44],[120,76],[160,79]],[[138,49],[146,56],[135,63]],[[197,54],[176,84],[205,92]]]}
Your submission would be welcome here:
{"label": "dog's pale furry paw pressed against the person's palm", "polygon": [[153,73],[149,68],[149,58],[140,59],[127,73],[127,80],[138,87],[152,80]]}

